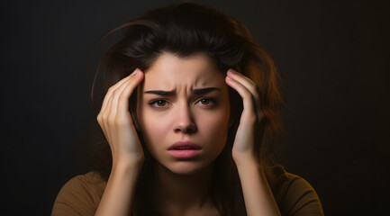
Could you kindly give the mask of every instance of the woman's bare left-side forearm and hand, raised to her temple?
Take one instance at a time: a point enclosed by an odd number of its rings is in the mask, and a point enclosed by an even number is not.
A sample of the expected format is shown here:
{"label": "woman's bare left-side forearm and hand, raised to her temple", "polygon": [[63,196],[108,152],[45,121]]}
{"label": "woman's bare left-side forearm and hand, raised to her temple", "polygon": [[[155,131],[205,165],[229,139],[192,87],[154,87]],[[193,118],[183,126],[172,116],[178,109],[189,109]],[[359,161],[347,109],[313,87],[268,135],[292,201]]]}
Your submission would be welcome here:
{"label": "woman's bare left-side forearm and hand, raised to her temple", "polygon": [[136,70],[111,86],[97,115],[113,155],[112,171],[95,211],[98,216],[125,216],[132,211],[144,153],[129,112],[129,99],[142,77],[141,70]]}

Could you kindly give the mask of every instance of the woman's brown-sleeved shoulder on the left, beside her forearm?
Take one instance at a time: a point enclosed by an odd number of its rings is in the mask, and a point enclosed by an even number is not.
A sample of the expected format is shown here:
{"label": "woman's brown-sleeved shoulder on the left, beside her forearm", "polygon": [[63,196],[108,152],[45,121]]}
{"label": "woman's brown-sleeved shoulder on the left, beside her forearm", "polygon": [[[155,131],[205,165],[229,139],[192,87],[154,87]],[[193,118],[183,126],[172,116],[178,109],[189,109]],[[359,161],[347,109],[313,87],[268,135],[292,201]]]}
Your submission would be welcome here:
{"label": "woman's brown-sleeved shoulder on the left, beside her forearm", "polygon": [[76,175],[59,190],[51,215],[94,215],[105,184],[95,171]]}

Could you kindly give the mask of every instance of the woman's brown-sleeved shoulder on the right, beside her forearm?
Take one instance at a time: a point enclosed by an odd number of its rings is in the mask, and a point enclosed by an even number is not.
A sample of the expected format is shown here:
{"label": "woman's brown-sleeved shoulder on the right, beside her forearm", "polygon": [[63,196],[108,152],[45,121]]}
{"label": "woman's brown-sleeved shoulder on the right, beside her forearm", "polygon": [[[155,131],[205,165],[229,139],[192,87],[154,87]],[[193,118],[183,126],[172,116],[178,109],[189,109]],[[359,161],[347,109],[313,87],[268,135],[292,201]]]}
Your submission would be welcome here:
{"label": "woman's brown-sleeved shoulder on the right, beside her forearm", "polygon": [[323,215],[318,194],[303,177],[280,165],[269,166],[265,174],[282,215]]}

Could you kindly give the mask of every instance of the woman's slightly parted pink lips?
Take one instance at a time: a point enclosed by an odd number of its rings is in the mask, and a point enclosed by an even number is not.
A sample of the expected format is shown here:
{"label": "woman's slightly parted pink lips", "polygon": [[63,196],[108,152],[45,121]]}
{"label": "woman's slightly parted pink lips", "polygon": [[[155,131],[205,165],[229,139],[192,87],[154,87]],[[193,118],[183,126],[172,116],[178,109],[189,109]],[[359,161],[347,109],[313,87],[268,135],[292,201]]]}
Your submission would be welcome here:
{"label": "woman's slightly parted pink lips", "polygon": [[195,157],[202,148],[191,141],[177,141],[168,148],[168,152],[177,158]]}

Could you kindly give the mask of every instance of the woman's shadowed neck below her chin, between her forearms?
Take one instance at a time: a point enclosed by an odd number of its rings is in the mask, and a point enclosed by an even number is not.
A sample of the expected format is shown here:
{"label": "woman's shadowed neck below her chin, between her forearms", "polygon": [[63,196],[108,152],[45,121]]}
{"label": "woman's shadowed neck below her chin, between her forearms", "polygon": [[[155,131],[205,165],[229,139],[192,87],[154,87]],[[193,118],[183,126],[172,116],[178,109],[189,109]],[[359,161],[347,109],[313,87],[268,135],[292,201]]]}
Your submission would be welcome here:
{"label": "woman's shadowed neck below her chin, between her forearms", "polygon": [[191,175],[175,174],[159,163],[156,171],[158,178],[154,181],[154,203],[158,209],[202,209],[209,202],[213,164]]}

